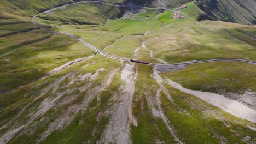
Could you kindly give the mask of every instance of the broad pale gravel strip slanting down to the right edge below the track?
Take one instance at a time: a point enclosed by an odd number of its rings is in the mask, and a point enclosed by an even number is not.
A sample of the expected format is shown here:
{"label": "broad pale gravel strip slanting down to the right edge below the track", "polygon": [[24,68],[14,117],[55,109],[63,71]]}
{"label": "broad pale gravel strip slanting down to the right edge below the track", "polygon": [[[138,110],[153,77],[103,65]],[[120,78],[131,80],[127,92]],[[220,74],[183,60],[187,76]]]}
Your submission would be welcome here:
{"label": "broad pale gravel strip slanting down to the right edge below the track", "polygon": [[174,88],[179,89],[182,92],[195,95],[196,97],[207,101],[208,103],[223,109],[226,112],[231,113],[236,117],[240,117],[242,119],[246,119],[253,123],[256,123],[256,111],[239,103],[236,100],[231,100],[223,95],[209,93],[209,92],[200,92],[200,91],[193,91],[187,88],[183,88],[179,83],[173,82],[170,79],[167,79],[169,85]]}

